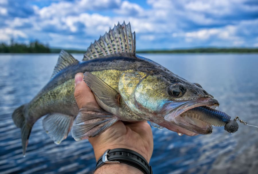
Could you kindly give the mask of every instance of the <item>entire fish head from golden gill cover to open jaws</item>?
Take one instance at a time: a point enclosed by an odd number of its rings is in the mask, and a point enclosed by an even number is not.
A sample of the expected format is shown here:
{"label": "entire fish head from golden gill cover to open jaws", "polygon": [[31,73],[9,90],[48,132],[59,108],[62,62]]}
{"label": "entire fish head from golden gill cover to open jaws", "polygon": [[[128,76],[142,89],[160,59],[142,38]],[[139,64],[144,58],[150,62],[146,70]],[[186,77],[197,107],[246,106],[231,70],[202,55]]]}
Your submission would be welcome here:
{"label": "entire fish head from golden gill cover to open jaws", "polygon": [[127,83],[127,87],[124,86],[127,90],[131,88],[130,93],[127,96],[122,93],[122,97],[133,112],[182,134],[196,135],[212,132],[212,125],[181,116],[182,113],[194,107],[205,105],[214,108],[219,105],[218,101],[201,85],[190,83],[171,72],[139,75],[139,78],[135,74],[132,76],[133,80],[127,79],[133,82]]}

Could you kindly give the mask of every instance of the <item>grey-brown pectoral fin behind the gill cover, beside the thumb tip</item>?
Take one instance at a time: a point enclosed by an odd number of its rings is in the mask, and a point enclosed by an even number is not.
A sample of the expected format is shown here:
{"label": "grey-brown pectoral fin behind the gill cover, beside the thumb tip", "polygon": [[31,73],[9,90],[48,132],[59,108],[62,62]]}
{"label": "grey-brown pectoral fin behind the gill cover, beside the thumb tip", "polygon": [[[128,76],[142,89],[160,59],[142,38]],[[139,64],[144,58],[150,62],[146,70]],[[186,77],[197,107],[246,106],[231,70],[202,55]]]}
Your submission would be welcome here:
{"label": "grey-brown pectoral fin behind the gill cover, beside the thumb tip", "polygon": [[113,108],[118,108],[119,93],[96,75],[85,72],[83,80],[89,86],[91,91],[101,100],[105,105]]}

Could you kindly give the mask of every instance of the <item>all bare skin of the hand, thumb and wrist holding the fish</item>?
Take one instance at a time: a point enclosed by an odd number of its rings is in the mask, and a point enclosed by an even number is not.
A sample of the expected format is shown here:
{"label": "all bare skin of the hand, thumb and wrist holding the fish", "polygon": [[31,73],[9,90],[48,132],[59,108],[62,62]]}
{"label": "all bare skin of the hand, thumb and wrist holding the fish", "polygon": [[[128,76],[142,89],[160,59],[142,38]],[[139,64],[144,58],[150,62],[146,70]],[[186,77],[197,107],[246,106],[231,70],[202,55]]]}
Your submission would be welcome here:
{"label": "all bare skin of the hand, thumb and wrist holding the fish", "polygon": [[[75,75],[74,96],[79,109],[87,104],[99,108],[91,89],[83,81],[83,73]],[[153,153],[153,135],[150,125],[146,121],[125,123],[116,122],[105,132],[89,138],[93,146],[96,161],[107,149],[128,148],[141,154],[148,162]],[[105,164],[95,173],[142,173],[140,170],[126,164]]]}

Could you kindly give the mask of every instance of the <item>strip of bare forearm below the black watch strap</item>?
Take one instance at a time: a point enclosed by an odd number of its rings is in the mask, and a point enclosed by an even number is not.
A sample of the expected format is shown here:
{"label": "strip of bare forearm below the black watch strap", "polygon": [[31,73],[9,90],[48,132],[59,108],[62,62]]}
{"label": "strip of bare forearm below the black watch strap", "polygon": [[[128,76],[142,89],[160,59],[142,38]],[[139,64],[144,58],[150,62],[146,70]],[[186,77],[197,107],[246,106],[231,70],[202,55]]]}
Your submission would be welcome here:
{"label": "strip of bare forearm below the black watch strap", "polygon": [[94,174],[143,174],[139,169],[124,164],[104,164],[99,167]]}

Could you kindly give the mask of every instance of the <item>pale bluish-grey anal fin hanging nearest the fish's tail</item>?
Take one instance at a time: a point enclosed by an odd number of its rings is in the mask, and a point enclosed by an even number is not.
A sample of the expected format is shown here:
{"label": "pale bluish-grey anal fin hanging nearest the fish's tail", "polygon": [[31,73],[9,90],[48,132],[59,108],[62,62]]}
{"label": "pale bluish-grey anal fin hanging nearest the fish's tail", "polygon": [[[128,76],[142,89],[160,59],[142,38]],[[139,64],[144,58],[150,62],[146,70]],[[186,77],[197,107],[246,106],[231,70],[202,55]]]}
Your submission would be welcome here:
{"label": "pale bluish-grey anal fin hanging nearest the fish's tail", "polygon": [[56,144],[60,144],[62,140],[67,138],[73,120],[73,116],[59,113],[48,114],[43,120],[43,128]]}

